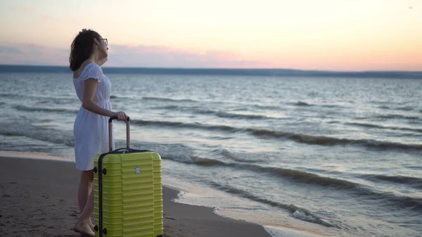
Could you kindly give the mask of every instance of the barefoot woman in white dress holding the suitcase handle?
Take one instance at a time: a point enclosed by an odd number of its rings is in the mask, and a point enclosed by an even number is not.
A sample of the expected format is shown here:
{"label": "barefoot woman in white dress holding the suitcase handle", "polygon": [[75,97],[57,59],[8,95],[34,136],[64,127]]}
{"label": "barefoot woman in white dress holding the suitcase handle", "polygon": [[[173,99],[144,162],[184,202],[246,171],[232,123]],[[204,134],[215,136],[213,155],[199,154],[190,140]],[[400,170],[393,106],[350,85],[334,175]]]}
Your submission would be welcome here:
{"label": "barefoot woman in white dress holding the suitcase handle", "polygon": [[[74,230],[94,236],[91,214],[94,211],[94,158],[108,152],[108,117],[127,121],[124,112],[113,112],[110,103],[111,84],[103,74],[108,41],[94,30],[82,30],[72,42],[70,69],[76,94],[82,102],[77,113],[73,133],[75,136],[75,162],[80,174],[78,203],[81,216]],[[113,141],[114,148],[114,141]]]}

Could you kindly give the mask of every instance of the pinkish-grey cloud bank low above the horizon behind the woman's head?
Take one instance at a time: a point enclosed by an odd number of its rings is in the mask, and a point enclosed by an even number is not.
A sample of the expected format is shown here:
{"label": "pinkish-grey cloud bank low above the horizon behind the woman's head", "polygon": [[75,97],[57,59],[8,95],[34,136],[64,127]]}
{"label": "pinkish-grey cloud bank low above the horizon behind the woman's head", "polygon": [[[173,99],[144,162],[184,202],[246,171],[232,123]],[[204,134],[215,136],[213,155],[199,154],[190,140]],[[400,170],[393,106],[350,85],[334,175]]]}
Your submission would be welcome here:
{"label": "pinkish-grey cloud bank low above the horizon behind the woman's head", "polygon": [[[110,45],[107,66],[151,68],[259,68],[268,63],[245,60],[229,51],[193,51],[166,46]],[[70,49],[34,44],[0,44],[1,64],[68,65]]]}

